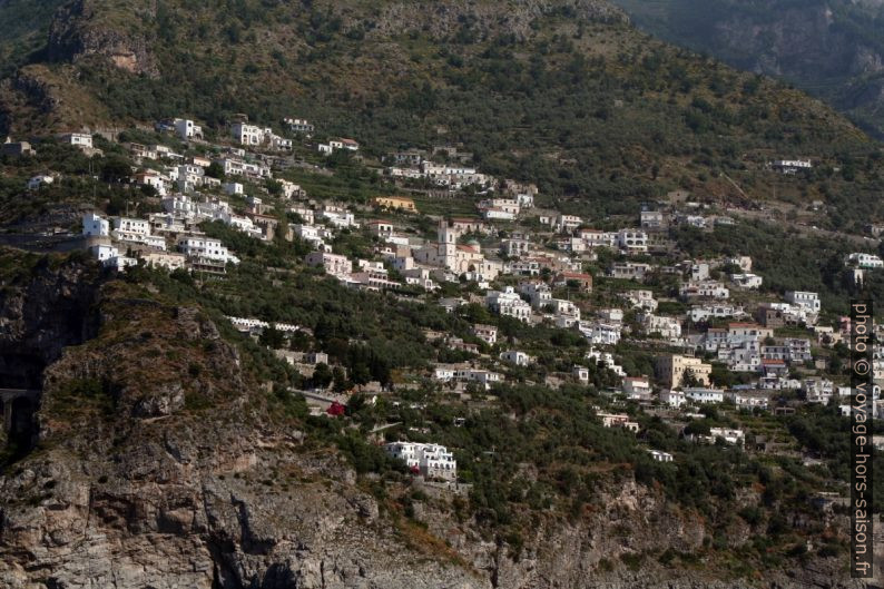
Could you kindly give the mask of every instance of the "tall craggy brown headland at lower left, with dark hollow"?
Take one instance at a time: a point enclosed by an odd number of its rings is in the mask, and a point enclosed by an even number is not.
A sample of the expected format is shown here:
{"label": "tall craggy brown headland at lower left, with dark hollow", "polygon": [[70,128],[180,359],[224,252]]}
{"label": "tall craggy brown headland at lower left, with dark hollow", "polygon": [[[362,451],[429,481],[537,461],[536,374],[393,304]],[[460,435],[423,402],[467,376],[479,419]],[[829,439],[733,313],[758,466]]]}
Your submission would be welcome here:
{"label": "tall craggy brown headland at lower left, with dark hollow", "polygon": [[38,449],[0,474],[0,589],[489,586],[402,558],[350,468],[258,416],[200,311],[82,266],[31,274],[0,314],[0,353],[30,350],[43,391]]}

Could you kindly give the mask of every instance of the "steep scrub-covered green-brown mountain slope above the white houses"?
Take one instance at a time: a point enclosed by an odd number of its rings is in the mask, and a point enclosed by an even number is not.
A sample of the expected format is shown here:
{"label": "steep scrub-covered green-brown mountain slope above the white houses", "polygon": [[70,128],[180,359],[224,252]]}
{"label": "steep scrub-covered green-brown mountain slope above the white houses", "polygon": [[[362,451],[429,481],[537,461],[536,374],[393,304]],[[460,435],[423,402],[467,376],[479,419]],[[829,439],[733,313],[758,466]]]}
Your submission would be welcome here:
{"label": "steep scrub-covered green-brown mountain slope above the white houses", "polygon": [[601,212],[675,188],[744,199],[723,173],[745,178],[752,199],[835,200],[839,225],[878,206],[865,183],[841,186],[829,173],[802,194],[755,177],[770,159],[800,156],[871,179],[877,147],[846,120],[654,41],[597,0],[78,0],[6,82],[0,112],[18,134],[306,116],[370,155],[463,143],[484,170]]}

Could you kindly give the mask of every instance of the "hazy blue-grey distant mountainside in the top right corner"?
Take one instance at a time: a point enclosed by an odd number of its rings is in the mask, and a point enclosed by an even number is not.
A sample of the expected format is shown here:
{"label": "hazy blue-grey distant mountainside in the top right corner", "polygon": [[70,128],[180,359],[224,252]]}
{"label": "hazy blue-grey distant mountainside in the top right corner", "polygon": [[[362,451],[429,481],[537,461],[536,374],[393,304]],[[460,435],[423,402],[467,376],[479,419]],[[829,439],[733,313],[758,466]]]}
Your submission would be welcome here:
{"label": "hazy blue-grey distant mountainside in the top right corner", "polygon": [[878,1],[613,2],[662,39],[782,77],[876,135],[884,131],[884,13]]}

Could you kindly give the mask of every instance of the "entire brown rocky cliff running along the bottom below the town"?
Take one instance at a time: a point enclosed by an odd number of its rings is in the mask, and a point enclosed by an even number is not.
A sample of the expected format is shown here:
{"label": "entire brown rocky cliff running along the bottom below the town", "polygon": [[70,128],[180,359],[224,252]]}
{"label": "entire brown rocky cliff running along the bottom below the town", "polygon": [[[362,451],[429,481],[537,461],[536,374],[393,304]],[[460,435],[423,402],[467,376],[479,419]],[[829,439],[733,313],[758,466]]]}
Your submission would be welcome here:
{"label": "entire brown rocky cliff running along the bottom below the town", "polygon": [[6,366],[12,350],[40,359],[42,400],[36,448],[0,474],[0,588],[860,587],[838,559],[733,581],[669,566],[657,554],[697,551],[706,522],[631,478],[569,520],[536,513],[519,540],[429,485],[403,518],[395,484],[367,492],[371,475],[268,412],[199,308],[28,261],[4,281],[0,352]]}

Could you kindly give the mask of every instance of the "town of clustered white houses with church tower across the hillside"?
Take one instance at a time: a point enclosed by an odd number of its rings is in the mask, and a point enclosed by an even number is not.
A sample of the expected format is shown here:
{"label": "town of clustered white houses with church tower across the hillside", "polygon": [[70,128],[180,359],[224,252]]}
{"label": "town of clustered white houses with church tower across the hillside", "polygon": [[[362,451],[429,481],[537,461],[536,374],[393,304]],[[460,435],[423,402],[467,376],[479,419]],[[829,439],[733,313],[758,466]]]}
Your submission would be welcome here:
{"label": "town of clustered white houses with church tower across the hillside", "polygon": [[[603,374],[601,393],[609,403],[597,416],[606,428],[642,435],[632,416],[638,411],[658,416],[687,440],[744,446],[747,436],[756,444],[758,438],[739,428],[698,432],[691,420],[716,405],[779,414],[802,404],[832,404],[849,413],[849,386],[832,374],[835,351],[849,341],[848,317],[826,313],[815,292],[764,291],[764,277],[754,272],[749,256],[679,256],[670,228],[708,232],[731,225],[735,218],[727,212],[709,213],[705,205],[680,198],[637,209],[621,226],[599,228],[547,200],[541,204],[533,184],[479,171],[470,153],[450,146],[384,157],[376,174],[386,195],[364,203],[313,198],[285,179],[293,149],[306,146],[325,158],[336,153],[361,158],[360,144],[336,137],[315,141],[316,129],[304,119],[287,118],[283,127],[277,134],[240,117],[227,137],[209,143],[200,125],[176,118],[158,121],[154,130],[180,141],[186,153],[163,143],[115,143],[131,158],[126,181],[150,195],[159,210],[90,210],[75,240],[109,272],[143,266],[223,281],[240,254],[204,230],[205,224],[219,223],[251,239],[288,243],[293,253],[296,247],[307,251],[299,257],[304,267],[347,288],[485,317],[469,334],[428,331],[426,338],[440,342],[451,361],[405,375],[395,386],[355,386],[373,399],[422,382],[461,399],[493,400],[501,383],[524,381],[526,375],[532,382],[540,374],[531,372],[533,352],[507,335],[512,332],[508,322],[518,322],[585,340],[579,363],[567,371],[543,371],[539,384],[598,386]],[[86,132],[57,140],[89,157],[102,153]],[[4,154],[17,157],[35,149],[27,141],[3,145]],[[770,164],[787,175],[808,166]],[[31,178],[27,189],[45,189],[58,178],[47,170]],[[428,215],[415,195],[456,198],[472,212]],[[371,244],[362,256],[336,245],[354,234]],[[843,262],[846,279],[855,284],[867,273],[884,272],[884,262],[870,252]],[[331,380],[315,375],[343,367],[330,366],[324,351],[292,352],[285,344],[299,334],[310,337],[307,327],[265,317],[228,320],[256,340],[264,341],[268,330],[281,334],[276,355],[313,383],[304,394],[314,413],[342,414],[353,390],[332,391]],[[654,364],[644,372],[625,369],[619,360],[625,347],[645,351]],[[884,352],[875,359],[875,377],[884,380]],[[621,411],[611,411],[617,408]],[[884,419],[877,397],[874,412]],[[415,474],[458,480],[456,461],[444,446],[400,440],[385,448]],[[678,460],[655,448],[647,451],[656,461]]]}

